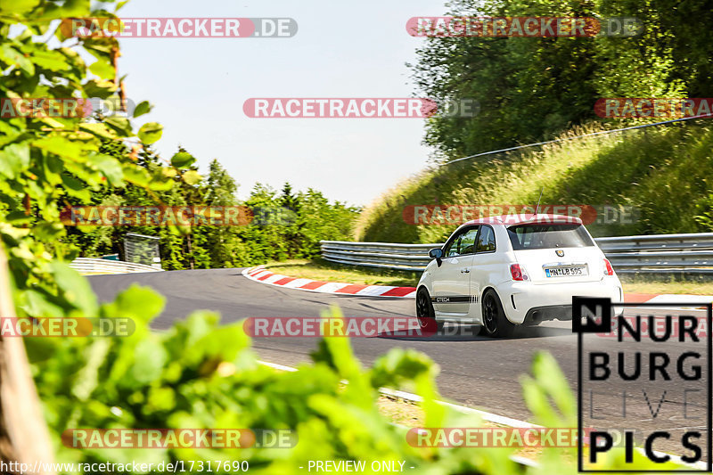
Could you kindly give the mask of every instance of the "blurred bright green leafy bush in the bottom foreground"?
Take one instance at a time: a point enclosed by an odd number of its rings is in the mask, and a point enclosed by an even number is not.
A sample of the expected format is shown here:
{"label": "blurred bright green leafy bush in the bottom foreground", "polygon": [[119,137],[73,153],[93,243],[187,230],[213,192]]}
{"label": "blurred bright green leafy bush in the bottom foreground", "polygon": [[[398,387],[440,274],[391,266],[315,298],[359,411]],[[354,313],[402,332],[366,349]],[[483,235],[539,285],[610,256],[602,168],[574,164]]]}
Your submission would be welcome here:
{"label": "blurred bright green leafy bush in the bottom foreground", "polygon": [[[428,356],[394,348],[363,369],[349,341],[321,341],[312,364],[277,372],[259,364],[242,323],[218,326],[218,316],[196,312],[168,332],[148,324],[163,299],[131,287],[98,315],[130,317],[124,338],[30,339],[29,354],[61,462],[233,463],[258,473],[301,473],[309,460],[406,461],[422,473],[520,473],[514,447],[436,448],[409,445],[406,428],[385,419],[376,405],[381,387],[406,388],[423,397],[424,427],[482,427],[478,415],[439,405],[438,367]],[[323,317],[340,318],[333,308]],[[538,354],[522,380],[526,404],[545,427],[576,427],[576,403],[552,356]],[[61,434],[100,429],[292,430],[291,448],[72,449]],[[546,448],[533,472],[574,472],[575,448]],[[614,452],[602,468],[621,466]],[[651,466],[637,455],[641,467]],[[193,461],[193,462],[192,462]],[[570,462],[566,462],[570,461]],[[130,472],[130,470],[127,470]],[[225,471],[224,471],[225,472]]]}

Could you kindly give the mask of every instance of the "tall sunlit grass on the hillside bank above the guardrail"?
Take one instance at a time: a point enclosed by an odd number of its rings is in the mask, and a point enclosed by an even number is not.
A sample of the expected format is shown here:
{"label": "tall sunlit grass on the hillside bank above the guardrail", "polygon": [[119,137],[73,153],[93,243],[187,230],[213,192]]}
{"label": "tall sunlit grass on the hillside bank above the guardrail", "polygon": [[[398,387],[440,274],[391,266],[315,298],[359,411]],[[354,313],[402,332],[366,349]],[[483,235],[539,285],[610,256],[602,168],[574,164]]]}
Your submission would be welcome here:
{"label": "tall sunlit grass on the hillside bank above the guardrail", "polygon": [[[573,139],[422,171],[367,207],[356,236],[375,242],[443,242],[455,225],[408,225],[408,205],[634,206],[633,224],[592,224],[594,236],[709,231],[713,127],[697,120]],[[563,136],[600,130],[575,127]]]}

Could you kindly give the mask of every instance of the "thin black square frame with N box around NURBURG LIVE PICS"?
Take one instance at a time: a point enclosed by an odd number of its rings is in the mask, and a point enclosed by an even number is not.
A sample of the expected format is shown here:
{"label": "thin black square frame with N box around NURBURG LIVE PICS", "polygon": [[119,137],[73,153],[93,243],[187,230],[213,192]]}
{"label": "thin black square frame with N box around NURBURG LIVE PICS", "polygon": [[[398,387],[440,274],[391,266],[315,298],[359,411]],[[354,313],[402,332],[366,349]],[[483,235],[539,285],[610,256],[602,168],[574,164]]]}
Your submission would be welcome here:
{"label": "thin black square frame with N box around NURBURG LIVE PICS", "polygon": [[[591,318],[587,317],[586,318],[586,323],[583,323],[582,320],[582,310],[583,308],[588,308],[591,311],[593,311],[596,307],[601,307],[602,308],[602,315],[600,321],[594,321]],[[707,461],[707,469],[705,471],[702,470],[687,470],[687,469],[682,469],[682,470],[675,470],[675,471],[656,471],[656,470],[584,470],[584,463],[582,459],[582,440],[583,440],[583,431],[582,431],[582,340],[584,337],[584,333],[603,333],[603,332],[611,332],[611,316],[613,315],[612,307],[621,307],[621,308],[641,308],[641,307],[681,307],[681,308],[686,308],[686,307],[693,307],[695,308],[701,308],[704,307],[706,309],[706,322],[708,323],[708,328],[706,329],[706,336],[707,336],[707,353],[708,353],[708,372],[707,372],[707,377],[708,377],[708,461]],[[641,318],[642,315],[636,315],[638,318]],[[578,463],[578,472],[580,473],[706,473],[706,472],[711,472],[713,471],[713,460],[711,460],[711,455],[713,455],[713,381],[711,380],[711,376],[713,376],[713,373],[711,373],[711,366],[713,365],[713,361],[711,361],[711,349],[713,347],[713,334],[711,334],[711,330],[713,327],[711,326],[711,319],[713,319],[713,304],[711,303],[706,303],[706,302],[701,302],[701,303],[691,303],[691,302],[656,302],[656,303],[648,303],[648,302],[643,302],[643,303],[611,303],[611,299],[598,299],[598,298],[590,298],[590,297],[573,297],[572,298],[572,332],[577,333],[577,416],[578,416],[578,437],[577,437],[577,448],[578,448],[578,454],[577,454],[577,463]]]}

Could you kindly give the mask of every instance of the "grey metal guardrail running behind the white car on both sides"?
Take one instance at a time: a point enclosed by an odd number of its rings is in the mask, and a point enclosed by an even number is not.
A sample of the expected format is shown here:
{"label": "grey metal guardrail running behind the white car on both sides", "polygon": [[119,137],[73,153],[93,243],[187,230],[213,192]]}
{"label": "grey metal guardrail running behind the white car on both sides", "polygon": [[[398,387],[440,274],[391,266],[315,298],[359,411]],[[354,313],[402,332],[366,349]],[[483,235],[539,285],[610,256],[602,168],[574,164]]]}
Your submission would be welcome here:
{"label": "grey metal guardrail running behind the white car on both sides", "polygon": [[[595,239],[619,274],[713,274],[713,233],[653,234]],[[442,243],[322,241],[325,260],[349,266],[420,272]]]}

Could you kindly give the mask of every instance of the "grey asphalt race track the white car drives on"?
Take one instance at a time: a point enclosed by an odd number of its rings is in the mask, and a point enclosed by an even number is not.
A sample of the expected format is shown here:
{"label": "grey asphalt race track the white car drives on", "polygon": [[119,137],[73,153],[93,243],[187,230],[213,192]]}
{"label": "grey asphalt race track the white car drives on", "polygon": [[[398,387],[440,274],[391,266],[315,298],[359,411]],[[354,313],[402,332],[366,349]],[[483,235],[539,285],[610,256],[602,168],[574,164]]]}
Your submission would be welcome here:
{"label": "grey asphalt race track the white car drives on", "polygon": [[[164,311],[152,323],[156,329],[168,328],[172,322],[198,309],[220,312],[224,323],[251,316],[315,317],[331,305],[341,307],[344,315],[351,317],[414,315],[414,299],[341,296],[285,289],[250,281],[241,272],[242,269],[211,269],[94,275],[89,280],[102,301],[113,299],[132,283],[159,291],[167,301]],[[688,313],[705,315],[701,311]],[[385,335],[352,339],[352,345],[363,364],[371,364],[389,348],[422,351],[440,366],[438,389],[444,397],[523,421],[533,422],[532,414],[523,403],[520,377],[529,373],[532,356],[537,351],[550,352],[561,365],[571,388],[576,389],[577,337],[571,332],[571,323],[543,323],[537,328],[522,329],[510,339],[488,339],[477,336],[477,332],[478,328],[474,325],[447,325],[447,334],[429,338],[405,339]],[[597,344],[614,345],[615,340],[600,340]],[[676,353],[682,351],[685,344],[672,342],[666,345]],[[309,353],[316,348],[316,339],[256,338],[253,339],[253,347],[263,360],[293,366],[309,360]],[[644,371],[647,371],[645,365]],[[665,386],[660,388],[663,390]],[[616,408],[621,406],[621,389],[612,387],[600,391],[593,404],[603,408],[604,412],[607,408],[612,413],[616,412]],[[627,401],[627,427],[674,430],[674,438],[668,442],[658,441],[655,449],[683,454],[676,439],[680,433],[676,430],[699,427],[705,433],[705,420],[683,420],[681,401],[670,397],[672,392],[669,392],[669,397],[664,397],[660,414],[653,418],[652,408],[656,410],[661,391],[652,393],[651,385],[646,386],[649,391],[647,397],[650,398],[647,403],[642,397],[644,387],[640,383],[631,381],[624,389],[633,396]],[[692,399],[697,396],[693,395]],[[696,407],[700,409],[706,403],[705,398],[694,400],[693,410]],[[705,444],[702,446],[705,447]]]}

